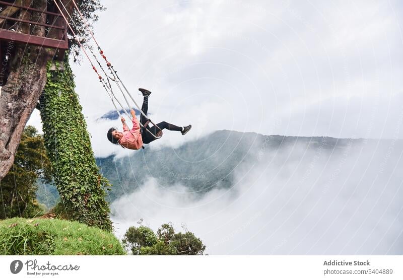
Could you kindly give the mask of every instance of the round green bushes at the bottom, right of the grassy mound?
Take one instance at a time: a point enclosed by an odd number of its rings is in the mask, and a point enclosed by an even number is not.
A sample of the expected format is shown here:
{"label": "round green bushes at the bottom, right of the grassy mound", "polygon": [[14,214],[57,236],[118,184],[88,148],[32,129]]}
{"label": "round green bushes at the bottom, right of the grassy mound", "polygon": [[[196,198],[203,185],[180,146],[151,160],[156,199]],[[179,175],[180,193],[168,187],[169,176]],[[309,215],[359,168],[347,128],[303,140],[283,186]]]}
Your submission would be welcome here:
{"label": "round green bushes at the bottom, right of the grassy mound", "polygon": [[130,227],[122,240],[133,255],[203,255],[206,245],[193,233],[175,233],[171,224],[163,224],[155,234],[145,226]]}

